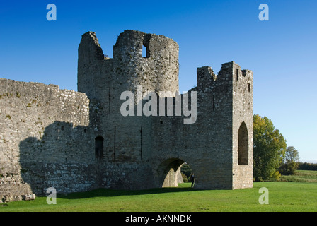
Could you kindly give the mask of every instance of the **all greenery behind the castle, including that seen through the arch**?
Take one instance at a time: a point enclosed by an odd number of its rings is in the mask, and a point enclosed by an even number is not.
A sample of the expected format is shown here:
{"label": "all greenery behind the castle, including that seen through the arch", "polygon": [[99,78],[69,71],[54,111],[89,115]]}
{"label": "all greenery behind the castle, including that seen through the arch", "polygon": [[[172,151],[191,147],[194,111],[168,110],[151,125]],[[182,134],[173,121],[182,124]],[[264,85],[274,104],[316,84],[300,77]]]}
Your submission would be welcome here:
{"label": "all greenery behind the castle, including that seen through the arch", "polygon": [[[281,174],[295,174],[296,169],[317,170],[317,164],[299,162],[299,151],[287,141],[267,117],[253,116],[253,180],[279,181]],[[190,182],[192,169],[184,164],[184,182]]]}

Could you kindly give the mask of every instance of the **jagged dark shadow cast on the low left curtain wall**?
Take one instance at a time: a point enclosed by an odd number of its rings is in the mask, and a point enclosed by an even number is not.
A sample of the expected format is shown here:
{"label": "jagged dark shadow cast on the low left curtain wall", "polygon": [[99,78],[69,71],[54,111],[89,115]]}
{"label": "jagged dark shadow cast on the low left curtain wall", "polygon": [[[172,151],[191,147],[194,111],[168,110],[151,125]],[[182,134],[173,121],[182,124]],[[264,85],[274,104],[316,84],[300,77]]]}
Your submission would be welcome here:
{"label": "jagged dark shadow cast on the low left curtain wall", "polygon": [[88,126],[55,121],[40,139],[21,141],[21,177],[36,195],[46,194],[49,187],[60,193],[98,188],[100,170],[88,130]]}

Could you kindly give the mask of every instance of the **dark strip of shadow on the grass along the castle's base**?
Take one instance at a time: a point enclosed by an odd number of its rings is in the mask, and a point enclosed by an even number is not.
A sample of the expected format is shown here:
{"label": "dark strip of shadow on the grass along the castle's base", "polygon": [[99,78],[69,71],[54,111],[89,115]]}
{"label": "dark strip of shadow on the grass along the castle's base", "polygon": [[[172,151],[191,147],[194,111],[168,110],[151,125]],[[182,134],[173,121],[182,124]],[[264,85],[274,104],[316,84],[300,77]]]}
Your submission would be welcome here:
{"label": "dark strip of shadow on the grass along the castle's base", "polygon": [[113,196],[139,196],[146,194],[163,194],[174,192],[200,191],[192,189],[190,186],[178,186],[171,188],[146,189],[146,190],[113,190],[113,189],[96,189],[92,191],[74,192],[71,194],[57,194],[57,198],[78,199],[78,198],[94,198],[94,197],[113,197]]}

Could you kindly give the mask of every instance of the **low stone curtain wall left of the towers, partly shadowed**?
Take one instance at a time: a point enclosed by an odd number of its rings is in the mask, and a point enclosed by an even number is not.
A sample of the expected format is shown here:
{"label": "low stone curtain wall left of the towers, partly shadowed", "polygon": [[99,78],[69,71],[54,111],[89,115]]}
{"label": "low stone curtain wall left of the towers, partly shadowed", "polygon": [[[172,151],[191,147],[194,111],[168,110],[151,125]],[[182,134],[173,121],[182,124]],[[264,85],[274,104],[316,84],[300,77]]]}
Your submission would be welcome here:
{"label": "low stone curtain wall left of the towers, partly shadowed", "polygon": [[3,78],[0,90],[0,201],[42,194],[54,185],[50,180],[85,184],[71,171],[82,171],[82,158],[92,158],[86,95]]}

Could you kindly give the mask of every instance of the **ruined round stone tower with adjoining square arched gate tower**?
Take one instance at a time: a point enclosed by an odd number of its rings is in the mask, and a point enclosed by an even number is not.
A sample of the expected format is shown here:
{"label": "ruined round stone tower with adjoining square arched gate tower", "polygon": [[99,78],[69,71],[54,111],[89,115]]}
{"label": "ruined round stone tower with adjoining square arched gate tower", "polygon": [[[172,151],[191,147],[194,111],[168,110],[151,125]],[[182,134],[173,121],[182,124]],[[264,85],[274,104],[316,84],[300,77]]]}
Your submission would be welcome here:
{"label": "ruined round stone tower with adjoining square arched gate tower", "polygon": [[[184,162],[194,170],[197,188],[252,186],[252,71],[241,71],[234,62],[223,64],[217,76],[210,67],[197,69],[197,87],[190,90],[197,92],[197,120],[188,125],[175,114],[120,114],[120,94],[130,90],[137,95],[137,85],[143,93],[178,91],[178,44],[167,37],[125,30],[110,59],[95,33],[87,32],[79,45],[78,76],[79,91],[100,106],[91,122],[97,122],[93,136],[103,138],[103,162],[137,165],[136,182],[125,179],[125,186],[177,186],[176,172]],[[175,96],[170,98],[175,109]],[[143,106],[144,100],[135,105]]]}

